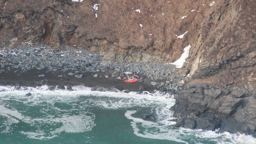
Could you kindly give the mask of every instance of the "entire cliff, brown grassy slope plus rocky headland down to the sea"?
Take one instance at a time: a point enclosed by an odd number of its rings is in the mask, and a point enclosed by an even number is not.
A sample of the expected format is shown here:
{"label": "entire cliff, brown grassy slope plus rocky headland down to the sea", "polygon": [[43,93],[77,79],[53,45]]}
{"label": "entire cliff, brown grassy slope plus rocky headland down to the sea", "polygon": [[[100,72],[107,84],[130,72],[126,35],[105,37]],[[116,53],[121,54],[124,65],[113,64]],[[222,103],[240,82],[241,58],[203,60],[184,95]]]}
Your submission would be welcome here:
{"label": "entire cliff, brown grassy slope plus rocky headland down to the sea", "polygon": [[102,64],[173,62],[191,44],[176,126],[256,131],[255,0],[2,0],[0,18],[1,47],[86,47]]}

